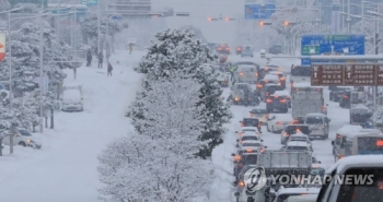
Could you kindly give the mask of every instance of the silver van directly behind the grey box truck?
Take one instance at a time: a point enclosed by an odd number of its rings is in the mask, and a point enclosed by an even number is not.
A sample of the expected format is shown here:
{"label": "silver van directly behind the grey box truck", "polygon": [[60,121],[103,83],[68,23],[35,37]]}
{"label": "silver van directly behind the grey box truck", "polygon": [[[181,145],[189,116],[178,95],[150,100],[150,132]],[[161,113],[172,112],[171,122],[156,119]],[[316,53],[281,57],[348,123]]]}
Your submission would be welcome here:
{"label": "silver van directly behind the grey box truck", "polygon": [[310,138],[328,139],[330,119],[324,114],[307,114],[304,124],[309,126]]}

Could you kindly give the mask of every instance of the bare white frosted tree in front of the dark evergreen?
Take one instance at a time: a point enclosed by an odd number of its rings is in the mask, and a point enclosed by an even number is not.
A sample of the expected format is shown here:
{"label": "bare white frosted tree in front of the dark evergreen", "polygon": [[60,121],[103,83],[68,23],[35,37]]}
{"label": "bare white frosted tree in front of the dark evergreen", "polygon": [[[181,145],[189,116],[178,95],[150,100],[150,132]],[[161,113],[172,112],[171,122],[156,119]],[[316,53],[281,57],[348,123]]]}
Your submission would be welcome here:
{"label": "bare white frosted tree in front of the dark evergreen", "polygon": [[100,193],[105,201],[186,202],[207,193],[211,161],[195,154],[207,142],[200,84],[183,75],[153,82],[141,100],[147,119],[141,133],[131,133],[98,156]]}

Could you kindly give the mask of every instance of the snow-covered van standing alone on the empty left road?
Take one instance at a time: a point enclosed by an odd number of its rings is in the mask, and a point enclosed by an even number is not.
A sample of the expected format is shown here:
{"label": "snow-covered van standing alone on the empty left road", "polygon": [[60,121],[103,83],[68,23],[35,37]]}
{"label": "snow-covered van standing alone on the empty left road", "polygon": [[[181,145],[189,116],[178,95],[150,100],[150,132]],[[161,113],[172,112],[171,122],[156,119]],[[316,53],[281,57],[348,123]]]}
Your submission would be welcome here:
{"label": "snow-covered van standing alone on the empty left road", "polygon": [[62,86],[61,110],[62,111],[82,111],[83,97],[81,84],[68,84]]}

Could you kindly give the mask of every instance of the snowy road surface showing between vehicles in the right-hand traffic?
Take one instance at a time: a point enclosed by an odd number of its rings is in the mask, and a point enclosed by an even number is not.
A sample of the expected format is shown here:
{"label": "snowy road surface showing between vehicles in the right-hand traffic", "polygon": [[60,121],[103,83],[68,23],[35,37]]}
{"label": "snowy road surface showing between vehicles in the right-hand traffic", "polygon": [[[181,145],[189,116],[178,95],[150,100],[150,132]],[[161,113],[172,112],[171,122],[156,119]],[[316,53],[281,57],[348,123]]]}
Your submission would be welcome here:
{"label": "snowy road surface showing between vehicles in the right-hand traffic", "polygon": [[[231,55],[229,57],[229,61],[254,61],[260,66],[266,64],[266,59],[260,59],[258,54],[255,54],[255,58],[241,58],[240,56]],[[286,59],[278,58],[272,59],[272,64],[278,64],[281,67],[282,71],[290,72],[291,64],[299,63],[297,59]],[[289,81],[289,79],[287,80]],[[287,86],[290,86],[289,84]],[[230,93],[230,88],[224,90],[224,96],[228,97]],[[348,109],[344,109],[339,107],[338,103],[328,100],[328,90],[325,87],[324,96],[325,100],[328,104],[328,117],[332,119],[330,121],[330,132],[329,138],[327,140],[314,140],[313,148],[314,155],[322,162],[322,164],[326,166],[330,166],[334,164],[334,157],[332,154],[332,144],[330,141],[335,139],[336,131],[341,128],[344,124],[348,123]],[[265,106],[265,103],[262,103],[260,106]],[[224,135],[224,143],[219,145],[212,154],[212,161],[216,166],[216,180],[212,182],[212,191],[210,193],[210,202],[221,202],[221,201],[235,201],[234,199],[234,187],[232,186],[234,181],[233,177],[233,157],[232,153],[235,153],[235,140],[236,134],[235,130],[239,129],[239,121],[244,117],[248,117],[248,111],[251,107],[244,106],[232,106],[231,108],[234,118],[231,123],[228,124],[229,132]],[[277,114],[276,114],[277,115]],[[279,116],[282,114],[278,114]],[[271,117],[272,115],[270,115]],[[288,115],[291,117],[291,109]],[[280,144],[280,134],[267,132],[266,126],[263,127],[263,139],[264,144],[268,146],[268,148],[280,148],[282,145]]]}

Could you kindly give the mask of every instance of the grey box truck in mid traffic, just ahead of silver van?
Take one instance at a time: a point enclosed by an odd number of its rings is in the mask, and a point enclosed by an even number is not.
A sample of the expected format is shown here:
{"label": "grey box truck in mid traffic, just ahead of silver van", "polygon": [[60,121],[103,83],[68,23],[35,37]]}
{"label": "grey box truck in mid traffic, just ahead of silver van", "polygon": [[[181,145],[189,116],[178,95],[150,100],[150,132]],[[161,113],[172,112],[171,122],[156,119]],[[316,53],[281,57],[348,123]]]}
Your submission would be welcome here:
{"label": "grey box truck in mid traffic, just ahead of silver van", "polygon": [[291,93],[291,114],[295,122],[303,123],[307,114],[327,115],[323,87],[294,86]]}

